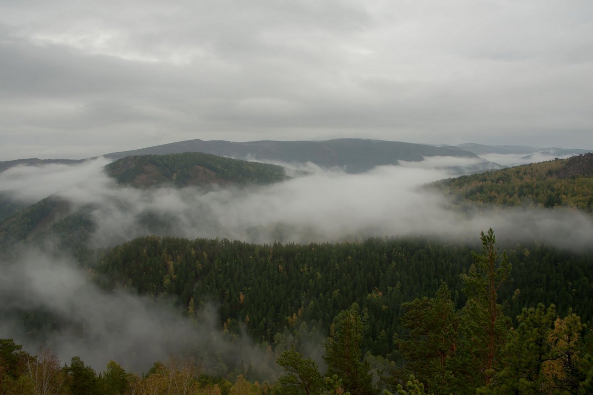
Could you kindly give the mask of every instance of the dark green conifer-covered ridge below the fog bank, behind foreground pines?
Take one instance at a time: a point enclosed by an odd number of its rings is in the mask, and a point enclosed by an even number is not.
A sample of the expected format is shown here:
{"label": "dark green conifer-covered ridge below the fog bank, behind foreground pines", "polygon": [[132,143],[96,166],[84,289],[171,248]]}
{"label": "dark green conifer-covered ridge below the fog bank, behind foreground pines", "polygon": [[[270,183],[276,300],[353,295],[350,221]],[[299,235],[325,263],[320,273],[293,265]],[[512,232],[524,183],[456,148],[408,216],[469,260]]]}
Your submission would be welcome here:
{"label": "dark green conifer-covered ridge below the fog bank, behind foreground pines", "polygon": [[[593,317],[591,253],[573,254],[540,245],[508,249],[512,281],[499,290],[508,315],[541,301]],[[340,310],[358,303],[368,314],[364,348],[394,352],[401,335],[401,303],[432,295],[441,281],[461,296],[460,275],[473,256],[467,246],[425,239],[340,244],[259,245],[228,240],[142,237],[106,250],[95,269],[106,285],[119,282],[153,297],[177,298],[183,310],[220,303],[221,326],[245,326],[257,342],[273,342],[285,328],[306,322],[329,330]]]}

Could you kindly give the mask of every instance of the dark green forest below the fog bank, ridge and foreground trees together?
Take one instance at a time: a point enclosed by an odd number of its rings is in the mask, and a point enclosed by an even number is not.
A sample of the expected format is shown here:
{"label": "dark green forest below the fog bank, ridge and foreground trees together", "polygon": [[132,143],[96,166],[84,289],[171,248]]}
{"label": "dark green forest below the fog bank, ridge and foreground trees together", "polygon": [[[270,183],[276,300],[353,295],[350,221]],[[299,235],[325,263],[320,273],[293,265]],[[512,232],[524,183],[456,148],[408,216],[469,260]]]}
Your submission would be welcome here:
{"label": "dark green forest below the fog bank, ridge and foreground trees together", "polygon": [[[101,286],[173,297],[194,320],[205,302],[218,302],[221,332],[232,338],[244,328],[276,350],[285,374],[260,383],[247,367],[216,378],[195,360],[175,358],[142,377],[116,362],[97,374],[75,357],[70,366],[54,363],[56,393],[81,393],[73,389],[83,385],[76,367],[88,376],[82,393],[97,394],[590,393],[591,254],[538,244],[501,252],[491,231],[481,252],[420,238],[307,245],[138,238],[97,252],[92,273]],[[36,325],[47,317],[28,317],[31,333],[43,336]],[[315,330],[326,337],[326,371],[299,350]],[[2,342],[2,388],[38,393],[30,369],[43,355]],[[113,371],[117,385],[107,383]]]}

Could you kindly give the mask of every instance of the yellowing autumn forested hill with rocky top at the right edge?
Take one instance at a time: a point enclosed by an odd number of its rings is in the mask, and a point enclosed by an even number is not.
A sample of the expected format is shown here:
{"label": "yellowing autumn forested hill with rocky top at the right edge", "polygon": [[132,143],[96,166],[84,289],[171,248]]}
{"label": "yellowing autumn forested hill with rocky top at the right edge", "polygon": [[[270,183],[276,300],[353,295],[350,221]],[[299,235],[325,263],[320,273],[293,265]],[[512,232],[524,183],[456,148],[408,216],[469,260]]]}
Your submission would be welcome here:
{"label": "yellowing autumn forested hill with rocky top at the right edge", "polygon": [[593,154],[471,174],[432,184],[458,201],[593,208]]}

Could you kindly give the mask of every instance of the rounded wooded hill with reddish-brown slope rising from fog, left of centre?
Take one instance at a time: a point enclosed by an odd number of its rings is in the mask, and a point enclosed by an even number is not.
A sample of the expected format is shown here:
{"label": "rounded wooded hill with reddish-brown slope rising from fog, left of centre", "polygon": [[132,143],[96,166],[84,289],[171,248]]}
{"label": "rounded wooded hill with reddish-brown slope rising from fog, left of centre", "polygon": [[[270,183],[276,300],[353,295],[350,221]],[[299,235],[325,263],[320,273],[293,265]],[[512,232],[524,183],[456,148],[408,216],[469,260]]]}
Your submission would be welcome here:
{"label": "rounded wooded hill with reddish-brown slope rising from fog, left of centre", "polygon": [[286,180],[284,168],[202,152],[125,157],[106,166],[120,184],[148,187],[171,184],[178,187],[207,184],[269,184]]}

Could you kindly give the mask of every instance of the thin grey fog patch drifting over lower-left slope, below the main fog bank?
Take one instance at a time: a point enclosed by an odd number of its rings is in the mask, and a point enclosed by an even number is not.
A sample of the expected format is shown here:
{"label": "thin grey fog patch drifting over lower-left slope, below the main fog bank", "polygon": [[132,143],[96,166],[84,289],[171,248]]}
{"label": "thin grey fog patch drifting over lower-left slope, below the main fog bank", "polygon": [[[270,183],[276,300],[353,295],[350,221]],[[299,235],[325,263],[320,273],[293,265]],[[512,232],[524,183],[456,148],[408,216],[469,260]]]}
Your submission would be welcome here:
{"label": "thin grey fog patch drifting over lower-left slope, below the main fog bank", "polygon": [[[223,334],[211,304],[196,312],[195,321],[183,318],[172,301],[154,301],[125,289],[100,289],[71,259],[48,251],[29,250],[0,265],[5,314],[47,311],[64,326],[36,341],[24,335],[18,320],[0,321],[0,338],[14,338],[30,353],[50,348],[62,363],[79,355],[97,372],[111,359],[139,374],[169,356],[197,355],[204,369],[222,374],[241,362],[263,377],[278,374],[274,356],[257,348],[248,336],[231,339]],[[200,359],[206,355],[209,358]]]}

